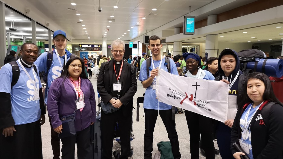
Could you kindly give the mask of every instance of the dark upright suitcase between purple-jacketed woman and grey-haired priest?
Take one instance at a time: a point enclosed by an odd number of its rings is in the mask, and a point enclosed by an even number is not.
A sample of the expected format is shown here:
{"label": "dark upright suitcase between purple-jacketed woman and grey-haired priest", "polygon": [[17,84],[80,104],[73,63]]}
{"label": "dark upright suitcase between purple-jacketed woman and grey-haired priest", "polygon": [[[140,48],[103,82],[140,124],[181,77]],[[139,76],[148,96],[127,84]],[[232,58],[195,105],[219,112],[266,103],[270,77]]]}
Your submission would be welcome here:
{"label": "dark upright suitcase between purple-jacketed woman and grey-haired priest", "polygon": [[90,126],[91,159],[101,159],[101,131],[100,131],[101,111],[96,111],[96,121]]}

